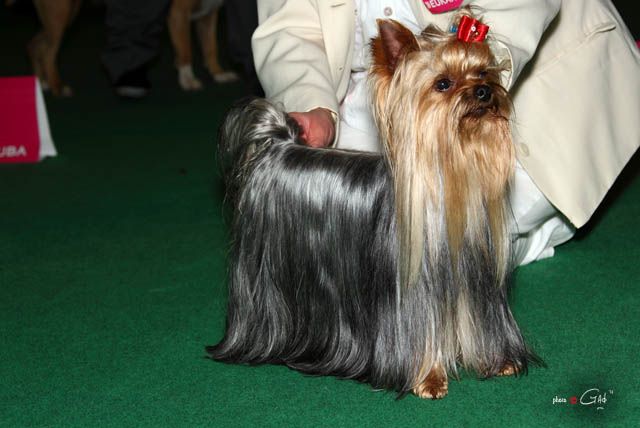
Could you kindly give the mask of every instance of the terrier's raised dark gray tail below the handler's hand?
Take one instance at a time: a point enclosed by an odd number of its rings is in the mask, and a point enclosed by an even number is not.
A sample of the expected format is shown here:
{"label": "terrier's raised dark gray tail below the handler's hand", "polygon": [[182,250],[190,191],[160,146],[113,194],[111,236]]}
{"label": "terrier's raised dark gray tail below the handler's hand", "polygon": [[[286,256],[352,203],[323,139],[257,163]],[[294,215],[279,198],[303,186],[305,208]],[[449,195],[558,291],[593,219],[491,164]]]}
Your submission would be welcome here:
{"label": "terrier's raised dark gray tail below the handler's hand", "polygon": [[284,108],[264,98],[244,98],[227,112],[218,132],[218,161],[230,195],[273,144],[300,142],[300,127]]}

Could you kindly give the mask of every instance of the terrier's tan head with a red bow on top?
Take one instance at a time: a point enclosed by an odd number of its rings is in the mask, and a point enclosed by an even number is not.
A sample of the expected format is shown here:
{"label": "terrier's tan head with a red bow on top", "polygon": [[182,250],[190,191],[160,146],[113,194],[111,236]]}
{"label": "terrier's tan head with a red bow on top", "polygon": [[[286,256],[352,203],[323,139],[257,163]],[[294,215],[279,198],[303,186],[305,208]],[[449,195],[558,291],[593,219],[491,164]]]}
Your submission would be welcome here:
{"label": "terrier's tan head with a red bow on top", "polygon": [[468,14],[455,22],[451,31],[429,26],[414,35],[396,21],[378,21],[370,75],[383,134],[401,117],[415,128],[438,127],[463,140],[508,124],[511,101],[500,83],[503,68],[484,40],[488,27]]}

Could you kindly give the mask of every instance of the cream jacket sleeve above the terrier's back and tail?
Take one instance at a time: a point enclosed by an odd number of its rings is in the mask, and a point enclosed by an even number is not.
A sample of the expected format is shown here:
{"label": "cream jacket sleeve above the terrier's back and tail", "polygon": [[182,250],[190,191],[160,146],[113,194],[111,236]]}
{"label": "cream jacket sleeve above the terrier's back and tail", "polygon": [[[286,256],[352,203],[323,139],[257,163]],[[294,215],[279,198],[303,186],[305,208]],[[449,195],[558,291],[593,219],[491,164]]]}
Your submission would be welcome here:
{"label": "cream jacket sleeve above the terrier's back and tail", "polygon": [[257,74],[267,98],[287,111],[338,111],[315,0],[258,0],[252,38]]}

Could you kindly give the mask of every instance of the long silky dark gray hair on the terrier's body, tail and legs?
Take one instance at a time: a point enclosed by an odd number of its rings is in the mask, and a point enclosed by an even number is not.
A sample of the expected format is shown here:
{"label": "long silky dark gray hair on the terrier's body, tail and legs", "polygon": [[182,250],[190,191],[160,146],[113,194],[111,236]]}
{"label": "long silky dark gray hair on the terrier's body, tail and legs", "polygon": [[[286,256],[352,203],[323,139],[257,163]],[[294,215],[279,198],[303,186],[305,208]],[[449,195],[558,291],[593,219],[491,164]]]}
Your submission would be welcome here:
{"label": "long silky dark gray hair on the terrier's body, tail and legs", "polygon": [[526,372],[535,357],[485,248],[462,243],[454,272],[429,257],[430,248],[447,253],[447,237],[426,236],[418,281],[400,287],[389,163],[299,140],[295,121],[262,99],[232,108],[221,128],[233,247],[226,331],[210,356],[400,394],[435,364],[486,377],[506,364]]}

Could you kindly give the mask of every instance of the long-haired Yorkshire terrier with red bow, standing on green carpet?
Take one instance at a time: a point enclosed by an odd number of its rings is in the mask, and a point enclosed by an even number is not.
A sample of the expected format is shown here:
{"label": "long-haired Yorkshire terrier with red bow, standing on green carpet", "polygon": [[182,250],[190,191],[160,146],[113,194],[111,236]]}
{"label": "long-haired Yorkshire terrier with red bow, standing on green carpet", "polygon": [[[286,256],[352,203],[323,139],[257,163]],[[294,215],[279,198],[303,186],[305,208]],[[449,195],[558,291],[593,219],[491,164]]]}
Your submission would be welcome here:
{"label": "long-haired Yorkshire terrier with red bow, standing on green carpet", "polygon": [[378,27],[383,154],[299,144],[265,100],[222,125],[233,249],[226,333],[207,351],[442,398],[460,366],[539,362],[507,302],[511,102],[470,15],[453,32]]}

